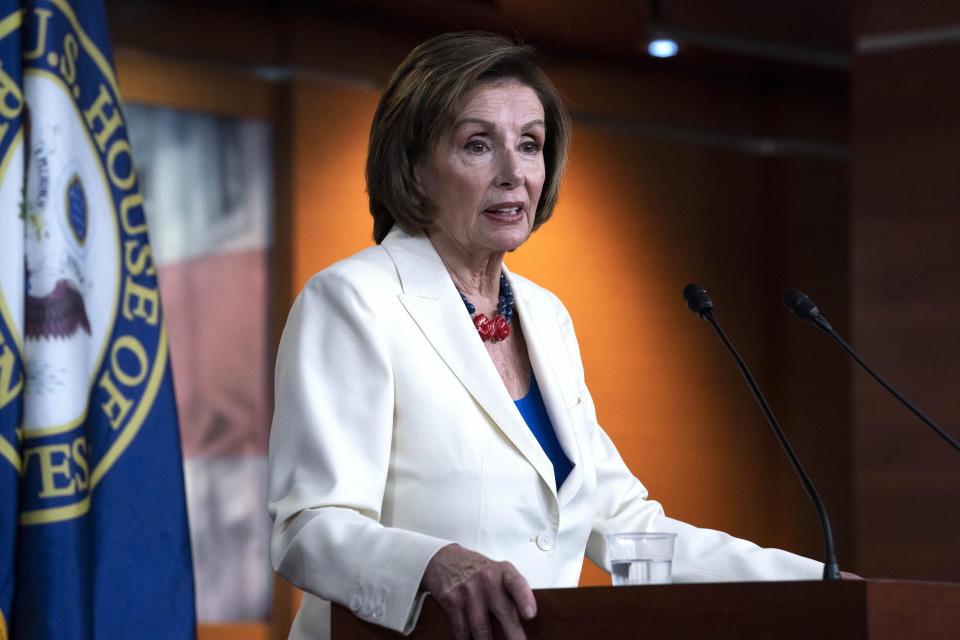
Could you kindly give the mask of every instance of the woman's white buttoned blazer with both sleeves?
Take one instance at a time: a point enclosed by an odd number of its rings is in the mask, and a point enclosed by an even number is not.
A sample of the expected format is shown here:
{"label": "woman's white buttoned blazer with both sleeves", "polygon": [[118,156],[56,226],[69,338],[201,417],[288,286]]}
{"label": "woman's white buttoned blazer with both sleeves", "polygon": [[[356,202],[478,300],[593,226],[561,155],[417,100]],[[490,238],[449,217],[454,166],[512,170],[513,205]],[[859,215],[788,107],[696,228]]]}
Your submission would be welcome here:
{"label": "woman's white buttoned blazer with both sleeves", "polygon": [[425,236],[395,228],[297,297],[277,357],[268,498],[273,566],[306,592],[291,638],[328,636],[326,601],[409,632],[423,571],[450,542],[512,562],[533,588],[575,587],[585,552],[609,570],[603,535],[620,531],[678,533],[675,581],[820,577],[818,562],[647,500],[597,424],[566,309],[506,273],[573,463],[559,492]]}

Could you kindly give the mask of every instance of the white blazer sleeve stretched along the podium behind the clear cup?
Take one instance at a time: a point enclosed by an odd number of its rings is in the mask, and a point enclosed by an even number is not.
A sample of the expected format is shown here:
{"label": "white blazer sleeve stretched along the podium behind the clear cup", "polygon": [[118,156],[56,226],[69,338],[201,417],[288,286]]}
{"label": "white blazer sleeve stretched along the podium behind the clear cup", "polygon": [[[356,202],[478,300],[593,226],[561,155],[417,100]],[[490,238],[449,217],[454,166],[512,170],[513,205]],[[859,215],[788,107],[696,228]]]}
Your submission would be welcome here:
{"label": "white blazer sleeve stretched along the podium behind the clear cup", "polygon": [[780,549],[764,549],[720,531],[668,518],[660,503],[647,499],[647,489],[627,468],[609,436],[597,424],[596,408],[584,380],[573,322],[559,300],[555,304],[567,353],[580,385],[585,419],[592,426],[590,449],[596,469],[597,505],[587,541],[587,557],[609,572],[605,534],[662,531],[677,534],[673,560],[675,582],[816,580],[822,577],[823,565],[819,562]]}

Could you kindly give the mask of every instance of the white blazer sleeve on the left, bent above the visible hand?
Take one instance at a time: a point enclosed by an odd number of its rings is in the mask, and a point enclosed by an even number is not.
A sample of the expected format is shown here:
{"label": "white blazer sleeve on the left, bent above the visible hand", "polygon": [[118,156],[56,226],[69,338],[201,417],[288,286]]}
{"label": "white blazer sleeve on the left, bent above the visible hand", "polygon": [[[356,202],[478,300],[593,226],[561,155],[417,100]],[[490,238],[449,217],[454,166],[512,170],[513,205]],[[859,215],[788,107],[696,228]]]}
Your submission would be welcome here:
{"label": "white blazer sleeve on the left, bent above the visible hand", "polygon": [[270,554],[297,587],[409,631],[446,540],[382,526],[394,379],[384,319],[328,269],[298,296],[277,357],[270,433]]}

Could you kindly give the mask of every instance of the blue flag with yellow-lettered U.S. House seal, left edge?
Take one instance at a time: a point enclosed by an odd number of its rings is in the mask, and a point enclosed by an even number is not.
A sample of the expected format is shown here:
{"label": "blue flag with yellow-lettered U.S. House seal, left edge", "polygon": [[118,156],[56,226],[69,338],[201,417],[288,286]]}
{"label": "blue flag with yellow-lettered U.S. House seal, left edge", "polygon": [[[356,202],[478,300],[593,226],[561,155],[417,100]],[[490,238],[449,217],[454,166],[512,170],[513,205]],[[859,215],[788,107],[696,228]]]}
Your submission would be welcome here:
{"label": "blue flag with yellow-lettered U.S. House seal, left edge", "polygon": [[0,6],[0,640],[193,638],[167,334],[103,7]]}

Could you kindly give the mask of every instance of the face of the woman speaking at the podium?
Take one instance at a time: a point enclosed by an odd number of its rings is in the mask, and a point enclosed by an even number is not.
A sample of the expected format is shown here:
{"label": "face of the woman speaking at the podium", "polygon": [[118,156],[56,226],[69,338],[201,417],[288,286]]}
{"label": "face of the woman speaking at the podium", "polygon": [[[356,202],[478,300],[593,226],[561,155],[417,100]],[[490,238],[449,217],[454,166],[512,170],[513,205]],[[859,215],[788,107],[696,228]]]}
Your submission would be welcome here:
{"label": "face of the woman speaking at the podium", "polygon": [[438,250],[483,257],[523,244],[543,189],[545,136],[543,105],[519,80],[483,82],[464,96],[415,169],[436,208],[429,235]]}

